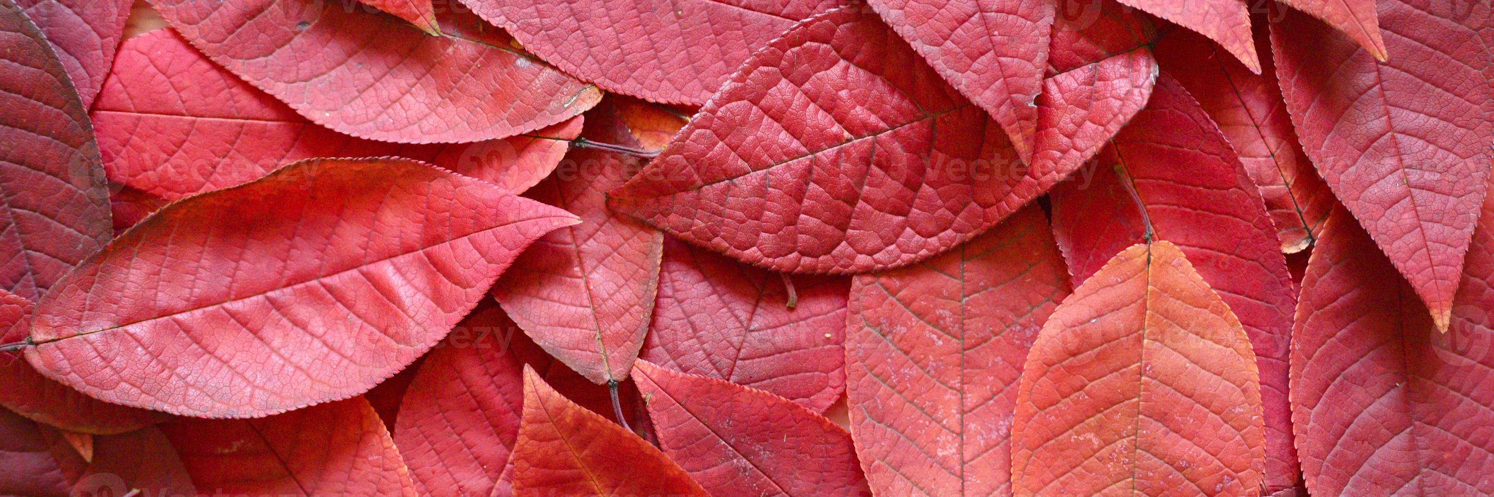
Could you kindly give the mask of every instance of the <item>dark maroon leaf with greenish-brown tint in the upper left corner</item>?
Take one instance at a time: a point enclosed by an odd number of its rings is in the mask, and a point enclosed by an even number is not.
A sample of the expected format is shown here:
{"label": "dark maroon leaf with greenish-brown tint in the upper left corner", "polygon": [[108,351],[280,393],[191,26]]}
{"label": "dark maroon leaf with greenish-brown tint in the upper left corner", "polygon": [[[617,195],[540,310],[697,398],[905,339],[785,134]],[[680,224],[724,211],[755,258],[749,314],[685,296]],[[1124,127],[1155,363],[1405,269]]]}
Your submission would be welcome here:
{"label": "dark maroon leaf with greenish-brown tint in the upper left corner", "polygon": [[78,93],[10,0],[0,61],[0,290],[36,300],[109,240],[109,193]]}

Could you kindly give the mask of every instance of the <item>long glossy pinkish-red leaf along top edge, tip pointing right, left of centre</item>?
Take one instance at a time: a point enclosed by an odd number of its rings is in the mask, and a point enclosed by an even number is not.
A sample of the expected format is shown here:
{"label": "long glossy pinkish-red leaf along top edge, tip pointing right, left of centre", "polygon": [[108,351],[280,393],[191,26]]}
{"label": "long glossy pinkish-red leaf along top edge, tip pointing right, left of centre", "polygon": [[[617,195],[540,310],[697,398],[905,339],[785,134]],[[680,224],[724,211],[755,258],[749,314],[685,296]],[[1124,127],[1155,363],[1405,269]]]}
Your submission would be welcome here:
{"label": "long glossy pinkish-red leaf along top edge, tip pointing right, left of centre", "polygon": [[478,142],[565,121],[601,100],[506,46],[429,36],[339,1],[151,0],[187,40],[312,122],[402,142]]}

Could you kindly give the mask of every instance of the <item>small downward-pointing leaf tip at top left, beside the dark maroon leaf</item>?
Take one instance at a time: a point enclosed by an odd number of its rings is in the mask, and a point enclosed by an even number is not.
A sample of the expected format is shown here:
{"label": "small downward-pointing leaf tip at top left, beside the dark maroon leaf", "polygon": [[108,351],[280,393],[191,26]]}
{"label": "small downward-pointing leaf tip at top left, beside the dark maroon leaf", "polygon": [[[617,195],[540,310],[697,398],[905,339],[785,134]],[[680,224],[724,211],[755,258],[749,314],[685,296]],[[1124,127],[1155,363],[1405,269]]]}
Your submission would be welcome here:
{"label": "small downward-pointing leaf tip at top left, beside the dark maroon leaf", "polygon": [[67,69],[84,109],[109,73],[133,0],[16,0]]}

